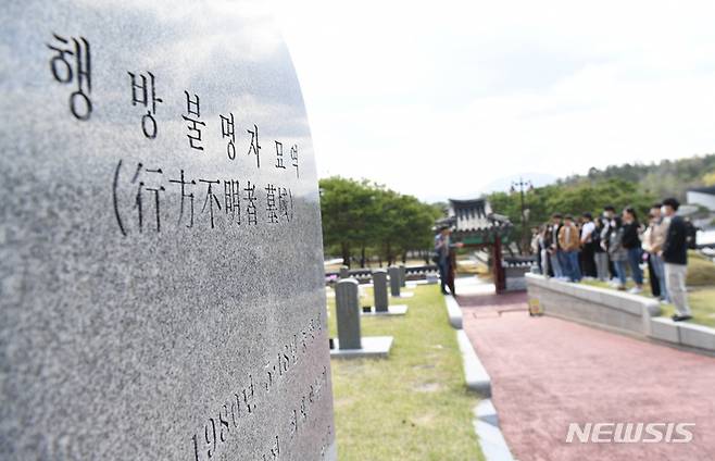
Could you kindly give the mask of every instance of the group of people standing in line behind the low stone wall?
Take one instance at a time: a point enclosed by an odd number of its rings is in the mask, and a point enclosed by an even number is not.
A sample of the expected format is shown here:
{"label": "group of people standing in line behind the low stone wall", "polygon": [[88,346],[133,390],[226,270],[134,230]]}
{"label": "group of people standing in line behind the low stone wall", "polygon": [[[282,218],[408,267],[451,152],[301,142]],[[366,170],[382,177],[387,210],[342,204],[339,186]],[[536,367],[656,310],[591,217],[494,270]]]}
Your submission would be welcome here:
{"label": "group of people standing in line behind the low stone wall", "polygon": [[575,217],[554,213],[551,221],[535,229],[531,241],[542,274],[568,282],[584,277],[611,282],[626,289],[627,274],[635,286],[629,292],[643,290],[647,263],[653,296],[676,307],[674,321],[691,319],[686,292],[689,230],[678,215],[678,200],[668,198],[651,207],[648,223],[642,224],[634,208],[616,213],[603,208]]}

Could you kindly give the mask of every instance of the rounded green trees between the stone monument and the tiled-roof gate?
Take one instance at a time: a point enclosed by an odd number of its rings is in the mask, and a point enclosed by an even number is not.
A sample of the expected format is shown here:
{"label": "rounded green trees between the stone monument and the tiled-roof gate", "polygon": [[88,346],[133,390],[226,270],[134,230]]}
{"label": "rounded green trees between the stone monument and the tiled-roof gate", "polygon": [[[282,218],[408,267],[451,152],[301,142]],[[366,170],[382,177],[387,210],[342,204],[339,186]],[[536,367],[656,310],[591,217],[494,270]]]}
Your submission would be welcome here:
{"label": "rounded green trees between the stone monument and the tiled-roof gate", "polygon": [[368,180],[334,176],[321,179],[323,237],[327,253],[344,261],[378,256],[392,263],[410,250],[431,246],[438,207]]}

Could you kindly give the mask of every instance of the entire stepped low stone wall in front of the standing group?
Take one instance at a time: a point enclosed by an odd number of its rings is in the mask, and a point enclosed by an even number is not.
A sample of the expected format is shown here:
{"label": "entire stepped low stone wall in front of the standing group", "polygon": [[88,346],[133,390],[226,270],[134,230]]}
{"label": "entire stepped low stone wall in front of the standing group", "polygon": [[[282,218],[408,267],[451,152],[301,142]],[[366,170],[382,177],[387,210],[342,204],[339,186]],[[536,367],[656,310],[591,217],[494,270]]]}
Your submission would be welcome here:
{"label": "entire stepped low stone wall in front of the standing group", "polygon": [[548,315],[715,353],[715,328],[661,317],[653,299],[536,274],[526,274],[526,283],[529,302]]}

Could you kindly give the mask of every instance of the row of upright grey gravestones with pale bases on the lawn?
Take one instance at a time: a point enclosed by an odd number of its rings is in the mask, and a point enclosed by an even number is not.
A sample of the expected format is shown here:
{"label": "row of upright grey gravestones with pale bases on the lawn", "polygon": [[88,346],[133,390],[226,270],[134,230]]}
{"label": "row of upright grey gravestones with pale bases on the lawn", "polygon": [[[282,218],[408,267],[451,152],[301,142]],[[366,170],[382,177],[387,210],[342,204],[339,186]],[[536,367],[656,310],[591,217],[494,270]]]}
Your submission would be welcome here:
{"label": "row of upright grey gravestones with pale bases on the lawn", "polygon": [[[341,269],[341,275],[347,275],[347,267]],[[391,336],[363,337],[360,317],[362,315],[404,315],[407,307],[390,306],[388,296],[388,275],[390,295],[393,298],[406,297],[401,294],[405,286],[404,266],[390,266],[388,271],[373,271],[374,306],[360,307],[359,283],[354,278],[341,277],[336,284],[336,315],[338,339],[330,341],[331,356],[337,358],[354,357],[387,357],[392,345]],[[337,342],[337,345],[336,345]]]}

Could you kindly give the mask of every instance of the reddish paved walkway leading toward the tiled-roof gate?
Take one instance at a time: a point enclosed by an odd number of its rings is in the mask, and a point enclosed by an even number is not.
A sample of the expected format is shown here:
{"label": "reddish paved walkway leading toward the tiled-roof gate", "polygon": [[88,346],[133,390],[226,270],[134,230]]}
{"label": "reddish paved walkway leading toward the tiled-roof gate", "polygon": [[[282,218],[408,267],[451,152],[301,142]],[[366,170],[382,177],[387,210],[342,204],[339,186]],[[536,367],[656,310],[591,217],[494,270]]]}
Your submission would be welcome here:
{"label": "reddish paved walkway leading toward the tiled-roof gate", "polygon": [[[457,286],[457,294],[460,287]],[[715,460],[715,359],[554,317],[526,295],[462,287],[512,452],[529,460]],[[690,444],[566,444],[568,423],[695,423]]]}

